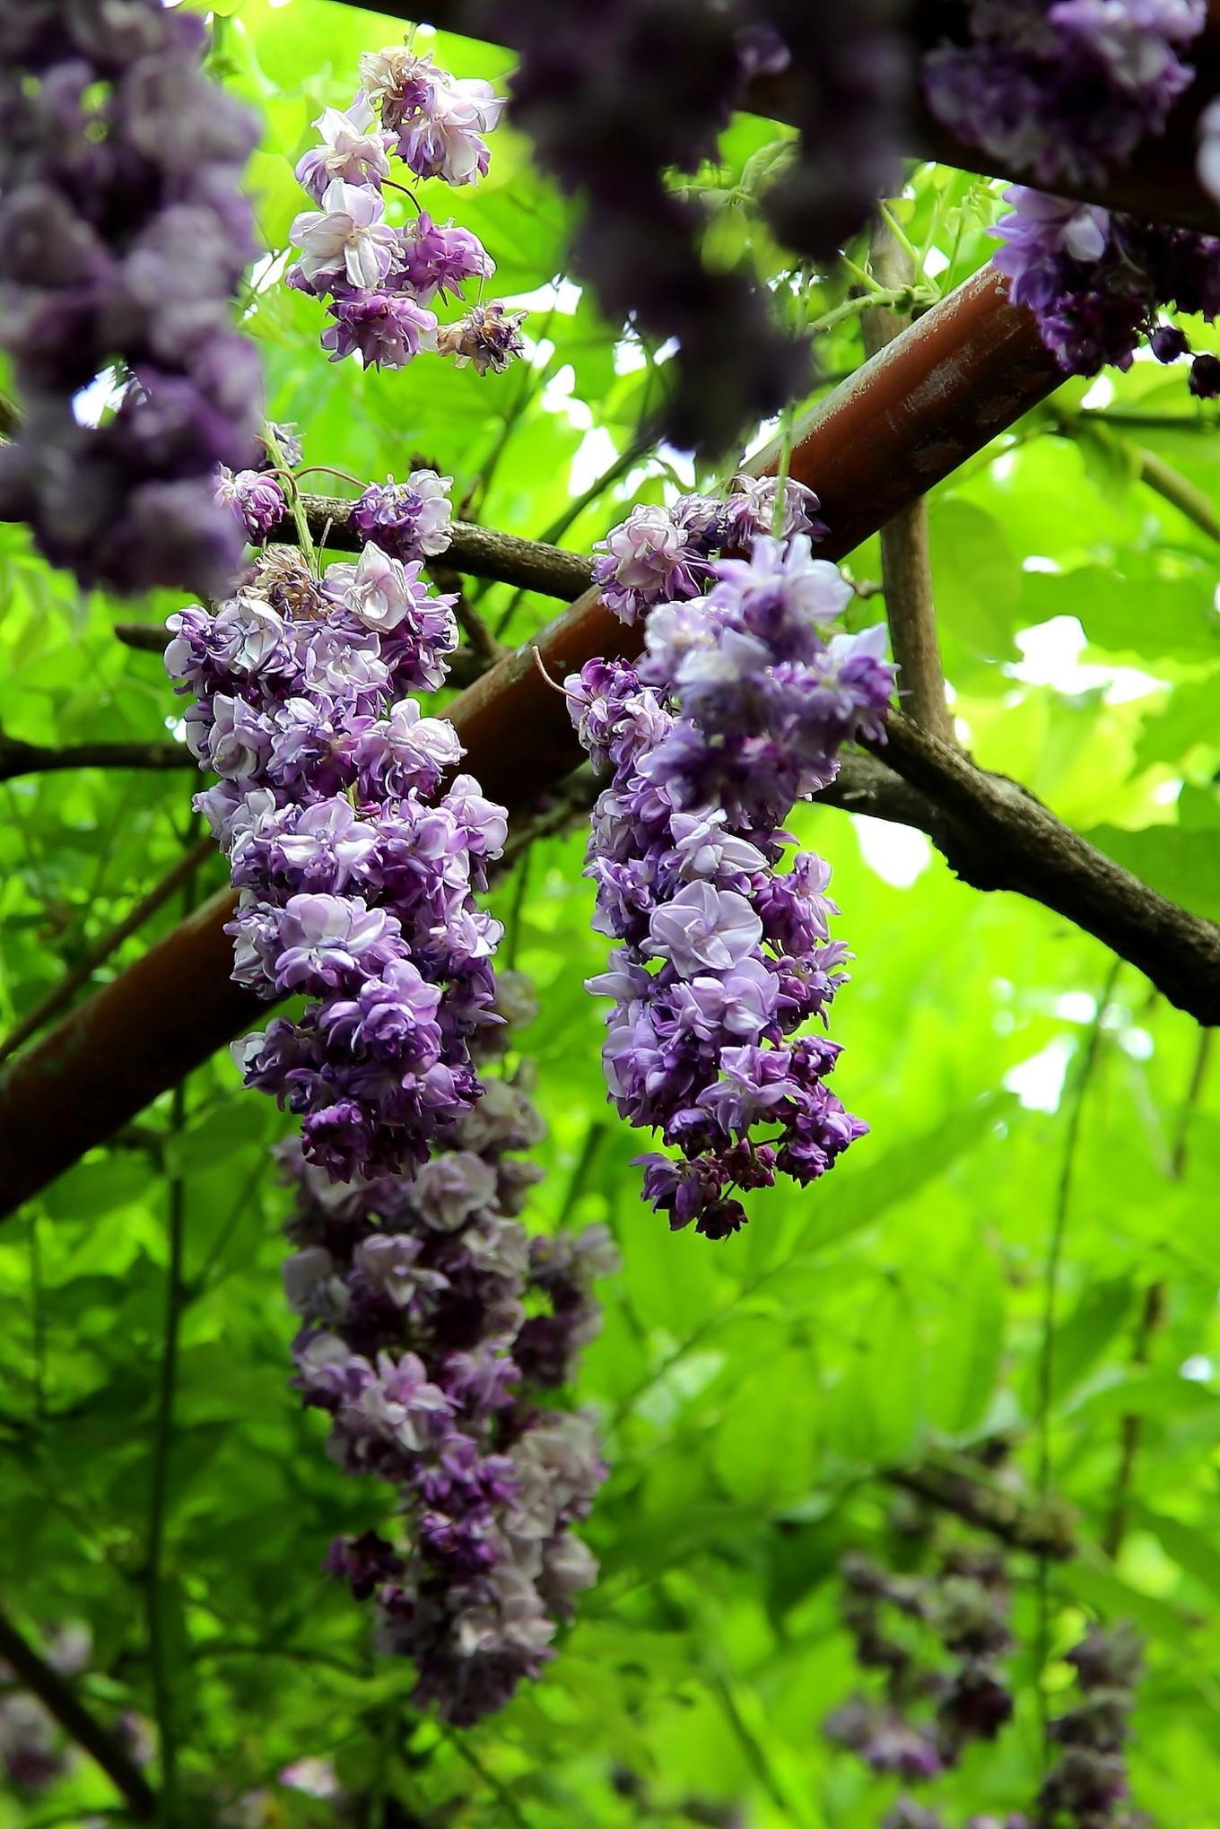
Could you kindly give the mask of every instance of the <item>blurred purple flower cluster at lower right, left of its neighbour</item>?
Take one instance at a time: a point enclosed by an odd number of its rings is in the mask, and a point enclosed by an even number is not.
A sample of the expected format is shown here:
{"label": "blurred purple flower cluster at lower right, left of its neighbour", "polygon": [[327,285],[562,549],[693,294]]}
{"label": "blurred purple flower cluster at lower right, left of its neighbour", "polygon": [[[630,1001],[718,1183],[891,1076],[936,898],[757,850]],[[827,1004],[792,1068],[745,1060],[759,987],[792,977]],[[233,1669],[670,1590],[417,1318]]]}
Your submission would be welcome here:
{"label": "blurred purple flower cluster at lower right, left of its neighbour", "polygon": [[[851,1695],[827,1717],[827,1738],[905,1781],[936,1778],[971,1741],[995,1739],[1013,1712],[999,1663],[1011,1646],[1002,1560],[955,1551],[927,1577],[847,1556],[841,1573],[843,1624],[861,1668],[883,1674],[883,1694]],[[913,1800],[902,1807],[920,1809]],[[918,1820],[902,1811],[889,1818]],[[938,1825],[935,1813],[931,1820]]]}

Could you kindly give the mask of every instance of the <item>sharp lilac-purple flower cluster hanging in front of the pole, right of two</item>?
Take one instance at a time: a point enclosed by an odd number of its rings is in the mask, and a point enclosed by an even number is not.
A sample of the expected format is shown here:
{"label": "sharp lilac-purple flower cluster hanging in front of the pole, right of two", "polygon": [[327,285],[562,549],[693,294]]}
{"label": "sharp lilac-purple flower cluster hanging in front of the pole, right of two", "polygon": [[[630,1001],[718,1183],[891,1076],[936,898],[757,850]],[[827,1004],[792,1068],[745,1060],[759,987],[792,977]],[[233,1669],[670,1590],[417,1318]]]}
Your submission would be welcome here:
{"label": "sharp lilac-purple flower cluster hanging in front of the pole, right of two", "polygon": [[[838,1046],[797,1037],[845,979],[830,871],[812,852],[777,863],[785,818],[834,779],[840,746],[883,737],[893,668],[880,627],[823,638],[851,585],[807,530],[761,532],[774,497],[757,485],[635,510],[598,572],[624,620],[651,609],[647,653],[591,660],[565,688],[583,748],[613,772],[585,865],[594,927],[620,942],[589,980],[613,999],[611,1099],[680,1150],[640,1158],[646,1196],[712,1238],[744,1224],[732,1189],[805,1185],[865,1130],[825,1085]],[[788,485],[783,525],[812,510]],[[708,554],[750,536],[750,558]]]}

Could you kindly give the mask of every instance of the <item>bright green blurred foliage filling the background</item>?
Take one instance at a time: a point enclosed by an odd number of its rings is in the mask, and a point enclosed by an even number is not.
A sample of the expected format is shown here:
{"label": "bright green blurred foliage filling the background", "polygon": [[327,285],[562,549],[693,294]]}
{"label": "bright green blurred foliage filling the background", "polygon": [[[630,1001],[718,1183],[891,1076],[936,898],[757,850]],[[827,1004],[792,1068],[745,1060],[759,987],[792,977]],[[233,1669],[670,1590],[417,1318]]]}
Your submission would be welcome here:
{"label": "bright green blurred foliage filling the background", "polygon": [[[690,485],[686,459],[649,452],[640,433],[664,351],[604,324],[565,282],[565,205],[507,130],[488,181],[454,209],[494,252],[496,289],[529,305],[529,360],[483,380],[433,358],[390,375],[329,366],[316,305],[274,283],[302,205],[291,165],[318,108],[349,99],[359,53],[399,27],[329,0],[227,0],[219,15],[218,66],[265,117],[251,177],[271,256],[247,322],[269,412],[300,424],[305,461],[359,479],[426,461],[454,476],[468,518],[578,551],[629,503]],[[501,53],[452,38],[439,60],[463,75],[505,70]],[[746,209],[776,137],[768,123],[735,123],[724,166],[695,183],[710,258],[752,262],[783,300],[783,256]],[[926,256],[922,296],[982,263],[995,212],[997,187],[911,172],[894,214]],[[847,271],[812,280],[808,318],[836,313],[849,283]],[[1215,342],[1189,329],[1198,348]],[[819,337],[819,360],[823,386],[861,360],[854,309]],[[946,671],[969,746],[1213,918],[1216,450],[1215,410],[1189,399],[1183,373],[1138,360],[1059,390],[931,503]],[[874,580],[878,563],[869,543],[849,569]],[[474,585],[472,600],[518,640],[554,609],[507,587]],[[112,633],[132,607],[75,594],[16,529],[0,538],[0,604],[5,735],[70,744],[176,730],[155,655]],[[174,607],[150,600],[137,613],[159,622]],[[188,772],[97,770],[0,785],[5,1026],[194,841],[194,785]],[[1006,1436],[1033,1491],[1044,1428],[1052,1491],[1074,1509],[1081,1546],[1050,1571],[1046,1681],[1066,1686],[1057,1659],[1086,1619],[1134,1619],[1149,1639],[1136,1802],[1174,1829],[1215,1825],[1220,1072],[1207,1074],[1200,1032],[1132,968],[1116,973],[1035,904],[958,885],[922,836],[830,808],[805,808],[799,834],[832,860],[856,953],[834,1010],[838,1090],[872,1136],[808,1193],[752,1196],[750,1227],[719,1246],[669,1236],[640,1205],[638,1139],[605,1107],[600,1010],[582,989],[604,955],[582,836],[534,845],[496,891],[508,949],[541,991],[525,1046],[549,1174],[527,1218],[605,1220],[624,1269],[604,1289],[582,1385],[613,1463],[587,1529],[602,1580],[545,1681],[477,1730],[415,1717],[410,1672],[371,1657],[359,1610],[320,1575],[329,1538],[375,1524],[382,1491],[338,1474],[320,1417],[287,1390],[274,1108],[218,1057],[177,1107],[161,1101],[0,1233],[4,1606],[38,1642],[86,1624],[86,1695],[106,1719],[146,1716],[166,1211],[185,1202],[166,1602],[185,1778],[212,1800],[201,1820],[342,1820],[333,1798],[280,1781],[294,1761],[324,1758],[348,1794],[371,1800],[360,1820],[388,1829],[872,1829],[893,1785],[819,1732],[856,1681],[836,1564],[858,1547],[902,1564],[920,1531],[955,1540],[953,1520],[913,1516],[894,1471],[973,1465]],[[196,894],[219,880],[209,863]],[[176,900],[106,973],[179,914]],[[1165,1315],[1141,1364],[1154,1284]],[[1130,1414],[1140,1454],[1108,1555]],[[1037,1787],[1037,1571],[1019,1555],[1011,1571],[1019,1717],[940,1783],[953,1822],[1017,1809]],[[0,1824],[86,1822],[108,1805],[106,1780],[80,1758],[38,1800],[4,1791]]]}

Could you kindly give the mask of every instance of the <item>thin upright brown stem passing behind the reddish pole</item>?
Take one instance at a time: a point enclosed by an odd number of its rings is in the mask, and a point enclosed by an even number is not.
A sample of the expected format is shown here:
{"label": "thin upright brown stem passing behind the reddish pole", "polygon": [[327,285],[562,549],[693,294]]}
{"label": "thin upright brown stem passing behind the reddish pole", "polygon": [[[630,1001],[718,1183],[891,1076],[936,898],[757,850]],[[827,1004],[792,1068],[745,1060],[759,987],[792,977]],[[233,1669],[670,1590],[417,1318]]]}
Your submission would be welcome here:
{"label": "thin upright brown stem passing behind the reddish pole", "polygon": [[[872,271],[882,285],[915,280],[915,262],[883,218],[872,230]],[[876,355],[911,322],[909,313],[865,311],[863,346]],[[953,717],[944,693],[936,604],[927,549],[927,496],[916,496],[882,529],[882,587],[889,642],[898,664],[898,704],[942,743],[953,743]]]}

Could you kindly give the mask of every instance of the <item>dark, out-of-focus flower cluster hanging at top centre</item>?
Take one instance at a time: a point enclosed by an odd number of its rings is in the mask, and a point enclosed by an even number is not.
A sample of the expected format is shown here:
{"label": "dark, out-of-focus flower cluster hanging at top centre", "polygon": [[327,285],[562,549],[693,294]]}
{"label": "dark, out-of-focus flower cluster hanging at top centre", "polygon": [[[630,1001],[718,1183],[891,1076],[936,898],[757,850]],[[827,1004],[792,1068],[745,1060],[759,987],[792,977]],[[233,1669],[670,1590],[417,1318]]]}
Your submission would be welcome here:
{"label": "dark, out-of-focus flower cluster hanging at top centre", "polygon": [[752,9],[706,0],[574,7],[485,0],[472,29],[510,44],[512,121],[540,165],[583,203],[571,267],[605,316],[677,338],[666,433],[677,444],[730,444],[748,421],[779,412],[808,375],[766,293],[739,271],[704,267],[701,209],[675,196],[669,168],[715,157],[744,79],[787,53],[739,37]]}

